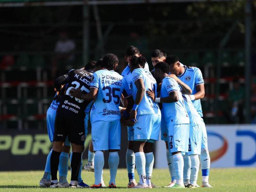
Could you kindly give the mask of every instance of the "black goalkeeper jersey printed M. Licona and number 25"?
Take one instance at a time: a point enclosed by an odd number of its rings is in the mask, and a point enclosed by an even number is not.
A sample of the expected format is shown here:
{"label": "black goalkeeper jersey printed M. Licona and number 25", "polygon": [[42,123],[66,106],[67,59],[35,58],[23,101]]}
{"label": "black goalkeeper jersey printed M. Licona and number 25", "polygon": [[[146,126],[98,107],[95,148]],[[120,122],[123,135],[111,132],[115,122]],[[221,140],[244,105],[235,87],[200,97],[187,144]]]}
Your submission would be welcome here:
{"label": "black goalkeeper jersey printed M. Licona and number 25", "polygon": [[91,101],[84,101],[69,95],[72,88],[80,88],[83,94],[90,92],[90,84],[93,72],[83,69],[72,69],[67,74],[58,77],[54,81],[54,87],[60,90],[61,85],[64,85],[64,92],[59,97],[60,105],[57,109],[57,114],[63,114],[69,117],[83,117],[84,110]]}

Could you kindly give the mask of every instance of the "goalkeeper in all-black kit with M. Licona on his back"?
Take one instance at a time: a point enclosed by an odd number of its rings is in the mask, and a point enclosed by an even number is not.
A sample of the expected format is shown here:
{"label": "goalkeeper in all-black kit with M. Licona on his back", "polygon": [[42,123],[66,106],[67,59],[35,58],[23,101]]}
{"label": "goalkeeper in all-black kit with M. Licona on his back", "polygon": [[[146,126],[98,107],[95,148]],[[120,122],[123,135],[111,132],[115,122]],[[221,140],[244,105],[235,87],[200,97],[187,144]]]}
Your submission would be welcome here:
{"label": "goalkeeper in all-black kit with M. Licona on his back", "polygon": [[85,108],[90,103],[82,99],[77,99],[69,95],[72,88],[80,88],[83,93],[89,92],[92,73],[83,69],[72,69],[66,75],[60,76],[54,81],[57,91],[61,85],[65,84],[65,94],[60,98],[60,107],[57,109],[55,117],[54,143],[51,155],[51,177],[50,187],[58,187],[57,170],[63,142],[68,136],[72,146],[71,160],[71,181],[69,187],[82,187],[77,185],[78,172],[81,164],[81,156],[84,150],[85,128],[84,117]]}

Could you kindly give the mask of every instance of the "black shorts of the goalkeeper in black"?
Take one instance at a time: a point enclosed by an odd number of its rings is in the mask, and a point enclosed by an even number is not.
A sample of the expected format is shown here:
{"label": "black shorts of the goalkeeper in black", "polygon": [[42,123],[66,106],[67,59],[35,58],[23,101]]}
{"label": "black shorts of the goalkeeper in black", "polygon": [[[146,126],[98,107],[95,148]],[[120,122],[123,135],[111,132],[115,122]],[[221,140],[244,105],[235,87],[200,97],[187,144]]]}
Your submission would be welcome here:
{"label": "black shorts of the goalkeeper in black", "polygon": [[68,136],[70,143],[84,145],[84,118],[56,114],[53,141],[65,141]]}

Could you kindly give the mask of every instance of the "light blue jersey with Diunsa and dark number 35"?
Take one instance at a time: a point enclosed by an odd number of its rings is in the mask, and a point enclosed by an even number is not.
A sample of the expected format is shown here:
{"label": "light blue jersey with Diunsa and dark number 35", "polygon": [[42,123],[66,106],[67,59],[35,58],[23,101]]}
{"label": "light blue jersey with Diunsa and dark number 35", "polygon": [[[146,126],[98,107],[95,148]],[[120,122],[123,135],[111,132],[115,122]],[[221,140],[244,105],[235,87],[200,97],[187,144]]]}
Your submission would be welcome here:
{"label": "light blue jersey with Diunsa and dark number 35", "polygon": [[91,88],[98,89],[97,98],[92,106],[91,122],[95,121],[116,121],[121,118],[119,104],[123,93],[127,98],[131,95],[129,87],[123,84],[123,76],[115,71],[107,69],[94,72]]}

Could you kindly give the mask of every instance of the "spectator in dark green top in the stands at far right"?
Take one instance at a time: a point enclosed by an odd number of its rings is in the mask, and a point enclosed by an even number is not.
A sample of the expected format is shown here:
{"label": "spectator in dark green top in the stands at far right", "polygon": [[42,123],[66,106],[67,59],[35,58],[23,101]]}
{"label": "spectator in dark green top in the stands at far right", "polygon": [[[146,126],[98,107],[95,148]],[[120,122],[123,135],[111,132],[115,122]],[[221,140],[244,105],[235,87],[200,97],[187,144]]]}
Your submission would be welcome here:
{"label": "spectator in dark green top in the stands at far right", "polygon": [[244,123],[244,88],[238,78],[233,80],[233,89],[228,93],[232,123]]}

